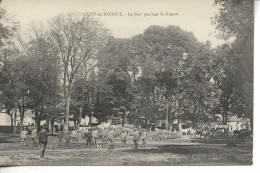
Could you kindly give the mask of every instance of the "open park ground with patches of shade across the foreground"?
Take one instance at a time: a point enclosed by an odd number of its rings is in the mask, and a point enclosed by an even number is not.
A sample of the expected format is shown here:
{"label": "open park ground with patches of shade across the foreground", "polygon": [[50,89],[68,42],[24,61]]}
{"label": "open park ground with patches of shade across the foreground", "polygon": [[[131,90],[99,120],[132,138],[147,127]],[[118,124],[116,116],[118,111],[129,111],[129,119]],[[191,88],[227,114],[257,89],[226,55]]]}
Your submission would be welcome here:
{"label": "open park ground with patches of shade across the foreground", "polygon": [[[225,147],[234,142],[237,147]],[[141,142],[140,142],[141,143]],[[58,137],[50,136],[44,159],[40,159],[38,147],[28,140],[20,145],[19,137],[0,134],[0,165],[251,165],[251,141],[212,141],[204,139],[176,138],[168,141],[148,141],[147,147],[133,149],[128,137],[125,147],[115,139],[114,149],[103,146],[87,147],[84,139],[71,142],[69,148],[58,147]],[[141,144],[140,144],[141,145]]]}

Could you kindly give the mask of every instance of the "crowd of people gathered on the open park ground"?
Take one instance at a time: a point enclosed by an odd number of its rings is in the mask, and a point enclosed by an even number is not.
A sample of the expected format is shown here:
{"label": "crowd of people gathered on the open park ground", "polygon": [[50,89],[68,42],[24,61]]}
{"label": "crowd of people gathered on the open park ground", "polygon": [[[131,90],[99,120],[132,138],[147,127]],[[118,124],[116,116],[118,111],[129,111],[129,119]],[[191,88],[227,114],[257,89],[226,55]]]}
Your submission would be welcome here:
{"label": "crowd of people gathered on the open park ground", "polygon": [[[28,130],[24,127],[21,131],[21,146],[26,145],[26,141],[28,141]],[[30,131],[30,138],[32,141],[32,145],[35,147],[39,147],[40,149],[40,158],[44,157],[45,149],[48,141],[48,127],[42,126],[41,130],[37,134],[37,129],[32,127]],[[141,141],[142,146],[146,147],[148,140],[148,132],[145,129],[138,130],[137,128],[129,131],[127,129],[116,130],[114,128],[101,129],[97,127],[93,128],[84,128],[83,130],[73,129],[68,133],[63,133],[63,131],[59,131],[58,134],[58,147],[64,146],[71,147],[71,142],[78,142],[79,139],[83,139],[86,141],[86,146],[91,147],[95,146],[97,149],[101,149],[104,147],[108,147],[108,149],[114,149],[114,142],[116,138],[120,138],[121,147],[125,147],[127,143],[127,138],[131,138],[134,143],[134,149],[138,149],[138,144]]]}

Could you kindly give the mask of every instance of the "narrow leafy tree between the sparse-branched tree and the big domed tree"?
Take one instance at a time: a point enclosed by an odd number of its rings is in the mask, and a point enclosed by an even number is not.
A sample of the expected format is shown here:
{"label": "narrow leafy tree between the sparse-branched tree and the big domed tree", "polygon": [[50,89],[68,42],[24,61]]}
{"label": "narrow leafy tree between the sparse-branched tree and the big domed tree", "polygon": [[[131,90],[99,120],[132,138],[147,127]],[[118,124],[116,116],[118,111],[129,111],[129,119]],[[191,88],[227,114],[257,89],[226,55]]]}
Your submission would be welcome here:
{"label": "narrow leafy tree between the sparse-branched tree and the big domed tree", "polygon": [[[107,46],[99,54],[98,67],[100,68],[99,76],[101,76],[99,79],[106,81],[106,84],[99,86],[99,94],[97,95],[98,109],[101,109],[102,91],[109,92],[111,94],[110,98],[106,97],[106,99],[112,104],[107,103],[107,106],[111,108],[113,105],[113,108],[110,109],[108,115],[112,117],[119,116],[122,119],[122,125],[125,123],[126,112],[130,109],[130,103],[133,99],[133,85],[130,76],[130,65],[133,56],[130,46],[129,39],[110,37]],[[105,78],[107,80],[104,80]]]}

